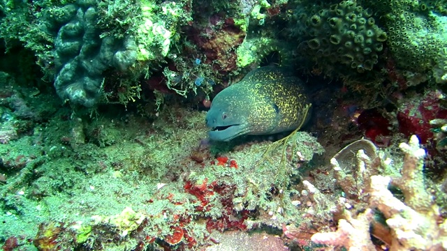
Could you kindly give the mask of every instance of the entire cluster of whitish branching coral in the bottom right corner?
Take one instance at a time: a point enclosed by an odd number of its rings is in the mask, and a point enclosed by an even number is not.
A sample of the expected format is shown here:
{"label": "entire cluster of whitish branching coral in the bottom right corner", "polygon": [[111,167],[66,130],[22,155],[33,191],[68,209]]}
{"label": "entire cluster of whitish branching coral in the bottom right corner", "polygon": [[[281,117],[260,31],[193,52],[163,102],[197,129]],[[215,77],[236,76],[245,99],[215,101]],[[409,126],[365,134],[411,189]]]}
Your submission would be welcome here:
{"label": "entire cluster of whitish branching coral in the bottom right corner", "polygon": [[[423,167],[425,150],[419,146],[418,137],[413,135],[408,144],[400,144],[404,152],[402,176],[390,177],[372,175],[363,183],[362,197],[358,206],[364,203],[362,213],[354,218],[351,211],[337,206],[334,212],[340,215],[337,231],[316,233],[312,236],[314,243],[344,246],[348,250],[376,250],[369,237],[370,234],[381,239],[389,250],[447,250],[447,221],[441,218],[439,207],[427,192],[424,184]],[[371,163],[362,150],[358,151],[358,166]],[[332,166],[339,169],[337,160],[332,159]],[[365,169],[360,168],[359,171]],[[336,170],[337,171],[337,170]],[[337,178],[337,182],[343,182]],[[357,188],[359,184],[356,184]],[[404,201],[397,199],[388,185],[402,190]],[[342,186],[342,185],[341,185]],[[343,186],[342,186],[343,188]],[[342,202],[344,200],[340,200]],[[361,208],[360,208],[361,209]],[[374,210],[378,209],[386,219],[386,225],[374,221]],[[380,226],[381,225],[381,226]],[[372,227],[370,227],[372,226]]]}

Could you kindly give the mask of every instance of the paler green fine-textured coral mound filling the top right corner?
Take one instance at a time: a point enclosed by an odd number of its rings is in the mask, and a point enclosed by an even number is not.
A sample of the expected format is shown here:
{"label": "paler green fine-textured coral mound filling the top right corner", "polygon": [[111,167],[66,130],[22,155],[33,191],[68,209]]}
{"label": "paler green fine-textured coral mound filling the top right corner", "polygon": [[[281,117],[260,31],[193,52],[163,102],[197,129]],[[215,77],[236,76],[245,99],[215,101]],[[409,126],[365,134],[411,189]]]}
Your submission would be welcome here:
{"label": "paler green fine-textured coral mound filling the top right corner", "polygon": [[388,46],[398,67],[415,73],[434,68],[436,82],[443,68],[447,47],[447,17],[444,1],[379,0],[362,4],[381,15],[388,33]]}

